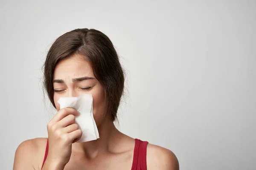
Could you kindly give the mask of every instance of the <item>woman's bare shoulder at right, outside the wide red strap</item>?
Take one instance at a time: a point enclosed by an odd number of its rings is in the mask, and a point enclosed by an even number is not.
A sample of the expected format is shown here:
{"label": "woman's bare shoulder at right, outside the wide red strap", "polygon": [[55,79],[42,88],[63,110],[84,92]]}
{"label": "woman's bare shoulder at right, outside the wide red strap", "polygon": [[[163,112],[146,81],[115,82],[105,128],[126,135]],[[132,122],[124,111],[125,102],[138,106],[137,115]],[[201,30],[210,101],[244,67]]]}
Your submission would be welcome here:
{"label": "woman's bare shoulder at right, outside the wide red strap", "polygon": [[179,170],[179,162],[177,157],[171,150],[154,144],[148,144],[147,169]]}

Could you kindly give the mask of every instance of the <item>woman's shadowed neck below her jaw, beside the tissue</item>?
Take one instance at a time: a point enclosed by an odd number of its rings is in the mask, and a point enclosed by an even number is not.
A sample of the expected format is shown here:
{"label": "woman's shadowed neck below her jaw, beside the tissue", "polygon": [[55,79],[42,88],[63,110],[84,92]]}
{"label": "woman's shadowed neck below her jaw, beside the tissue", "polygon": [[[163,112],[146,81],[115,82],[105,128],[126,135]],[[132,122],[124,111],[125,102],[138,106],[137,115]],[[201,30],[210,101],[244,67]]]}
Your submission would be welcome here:
{"label": "woman's shadowed neck below her jaw, beside the tissue", "polygon": [[122,133],[116,129],[112,121],[102,122],[102,125],[98,127],[98,131],[99,139],[74,143],[75,150],[79,153],[83,152],[88,159],[96,158],[101,153],[114,152],[115,143],[121,138]]}

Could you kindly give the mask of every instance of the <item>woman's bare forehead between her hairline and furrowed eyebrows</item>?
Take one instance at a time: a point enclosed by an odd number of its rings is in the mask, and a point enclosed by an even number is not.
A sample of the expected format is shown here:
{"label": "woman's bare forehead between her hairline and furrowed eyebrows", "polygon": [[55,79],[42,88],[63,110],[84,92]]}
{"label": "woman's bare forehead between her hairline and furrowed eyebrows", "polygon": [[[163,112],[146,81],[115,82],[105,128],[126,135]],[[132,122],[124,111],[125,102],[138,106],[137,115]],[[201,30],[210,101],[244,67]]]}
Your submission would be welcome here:
{"label": "woman's bare forehead between her hairline and furrowed eyebrows", "polygon": [[57,63],[53,73],[53,79],[64,79],[65,77],[94,77],[90,63],[80,54],[61,60]]}

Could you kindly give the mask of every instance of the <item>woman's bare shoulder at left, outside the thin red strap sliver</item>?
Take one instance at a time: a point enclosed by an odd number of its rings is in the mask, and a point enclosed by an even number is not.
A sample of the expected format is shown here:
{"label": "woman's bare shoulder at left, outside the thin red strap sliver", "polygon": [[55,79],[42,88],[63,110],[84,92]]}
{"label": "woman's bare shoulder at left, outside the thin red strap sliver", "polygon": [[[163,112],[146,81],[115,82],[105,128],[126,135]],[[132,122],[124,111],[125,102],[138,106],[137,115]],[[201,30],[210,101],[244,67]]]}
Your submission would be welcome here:
{"label": "woman's bare shoulder at left, outside the thin red strap sliver", "polygon": [[15,152],[14,170],[40,169],[43,163],[47,138],[35,138],[22,142]]}

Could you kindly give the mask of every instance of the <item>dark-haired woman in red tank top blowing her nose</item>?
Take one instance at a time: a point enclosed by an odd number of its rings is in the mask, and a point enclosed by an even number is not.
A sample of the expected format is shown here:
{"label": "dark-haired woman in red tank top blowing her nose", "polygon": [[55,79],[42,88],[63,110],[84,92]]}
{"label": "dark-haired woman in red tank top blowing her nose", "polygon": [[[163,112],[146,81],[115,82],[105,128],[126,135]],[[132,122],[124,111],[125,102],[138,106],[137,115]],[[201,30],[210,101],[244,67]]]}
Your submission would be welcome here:
{"label": "dark-haired woman in red tank top blowing her nose", "polygon": [[[76,79],[76,81],[73,81]],[[44,64],[44,87],[58,111],[47,125],[48,139],[22,142],[14,170],[178,170],[170,150],[119,132],[113,124],[124,73],[109,38],[95,29],[75,29],[52,44]],[[60,109],[58,99],[92,94],[100,138],[78,143],[79,112]]]}

